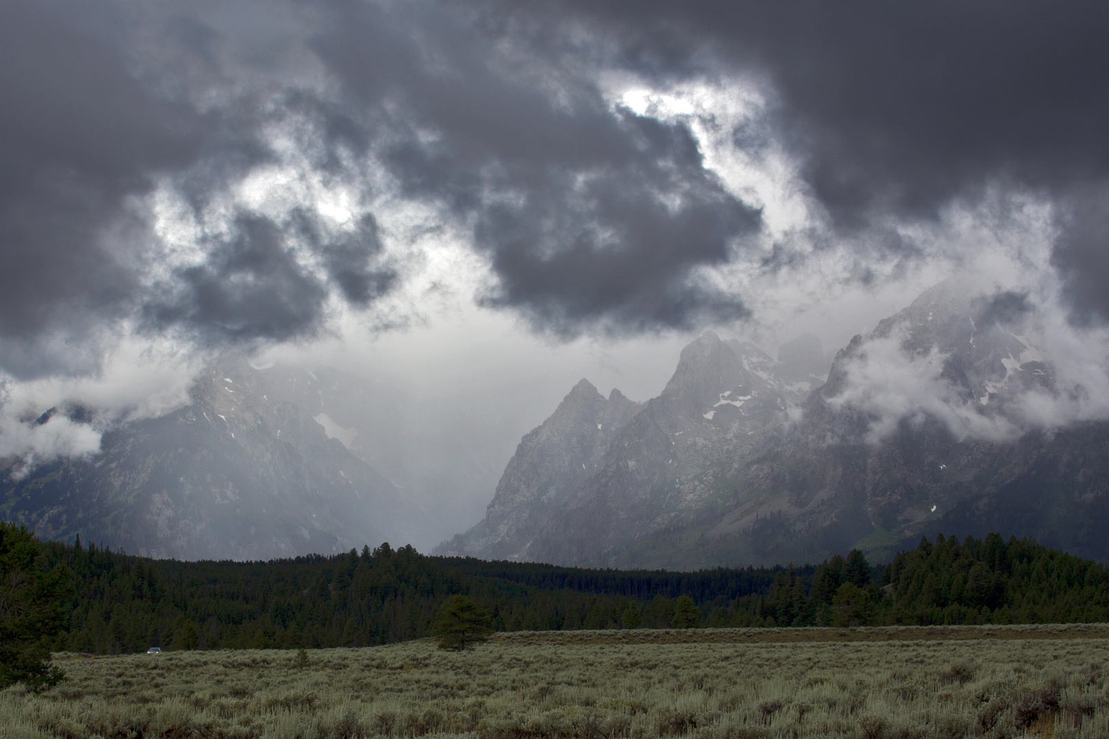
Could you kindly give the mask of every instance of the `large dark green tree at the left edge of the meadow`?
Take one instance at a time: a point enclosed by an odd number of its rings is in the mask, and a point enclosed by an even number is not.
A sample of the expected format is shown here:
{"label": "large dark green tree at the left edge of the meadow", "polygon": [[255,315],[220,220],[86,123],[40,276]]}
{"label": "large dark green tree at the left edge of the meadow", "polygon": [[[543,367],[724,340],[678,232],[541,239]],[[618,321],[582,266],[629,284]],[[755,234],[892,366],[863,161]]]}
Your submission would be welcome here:
{"label": "large dark green tree at the left edge of the meadow", "polygon": [[65,626],[70,571],[61,563],[47,569],[40,551],[27,526],[0,522],[0,688],[41,690],[64,677],[50,664],[48,642]]}

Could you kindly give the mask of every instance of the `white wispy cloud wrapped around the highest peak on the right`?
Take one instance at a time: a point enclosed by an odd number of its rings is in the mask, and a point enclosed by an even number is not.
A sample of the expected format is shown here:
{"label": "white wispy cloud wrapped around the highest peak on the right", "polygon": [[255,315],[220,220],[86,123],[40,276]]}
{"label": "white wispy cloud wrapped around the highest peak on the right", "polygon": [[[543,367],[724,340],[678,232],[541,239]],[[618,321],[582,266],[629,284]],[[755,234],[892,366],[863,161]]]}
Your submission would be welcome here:
{"label": "white wispy cloud wrapped around the highest peak on the right", "polygon": [[905,422],[1005,443],[1109,420],[1103,330],[1069,322],[1042,295],[973,295],[965,281],[937,286],[837,358],[827,401],[862,414],[866,442]]}

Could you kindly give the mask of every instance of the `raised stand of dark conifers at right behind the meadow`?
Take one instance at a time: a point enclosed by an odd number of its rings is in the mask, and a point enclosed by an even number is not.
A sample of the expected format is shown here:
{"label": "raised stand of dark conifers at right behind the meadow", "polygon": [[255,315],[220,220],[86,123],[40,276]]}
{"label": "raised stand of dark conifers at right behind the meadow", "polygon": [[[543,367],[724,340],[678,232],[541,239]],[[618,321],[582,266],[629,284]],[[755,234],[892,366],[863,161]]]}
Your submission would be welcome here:
{"label": "raised stand of dark conifers at right behind the meadow", "polygon": [[[928,626],[1109,620],[1109,576],[1091,560],[1031,538],[936,536],[875,578],[863,554],[833,557],[812,579],[777,573],[765,595],[706,614],[709,626]],[[702,608],[702,610],[704,610]]]}

